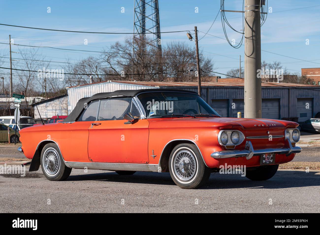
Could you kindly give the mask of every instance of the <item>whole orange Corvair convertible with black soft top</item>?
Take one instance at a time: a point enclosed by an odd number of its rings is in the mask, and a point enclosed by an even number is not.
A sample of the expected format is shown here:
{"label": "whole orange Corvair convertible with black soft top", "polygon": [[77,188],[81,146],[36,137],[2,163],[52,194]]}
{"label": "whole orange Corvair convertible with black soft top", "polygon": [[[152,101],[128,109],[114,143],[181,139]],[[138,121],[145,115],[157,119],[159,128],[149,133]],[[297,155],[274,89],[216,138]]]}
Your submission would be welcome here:
{"label": "whole orange Corvair convertible with black soft top", "polygon": [[229,165],[244,166],[251,180],[271,178],[301,151],[297,126],[223,118],[192,91],[117,90],[80,99],[63,122],[21,129],[19,151],[49,180],[72,168],[169,171],[181,188],[197,188]]}

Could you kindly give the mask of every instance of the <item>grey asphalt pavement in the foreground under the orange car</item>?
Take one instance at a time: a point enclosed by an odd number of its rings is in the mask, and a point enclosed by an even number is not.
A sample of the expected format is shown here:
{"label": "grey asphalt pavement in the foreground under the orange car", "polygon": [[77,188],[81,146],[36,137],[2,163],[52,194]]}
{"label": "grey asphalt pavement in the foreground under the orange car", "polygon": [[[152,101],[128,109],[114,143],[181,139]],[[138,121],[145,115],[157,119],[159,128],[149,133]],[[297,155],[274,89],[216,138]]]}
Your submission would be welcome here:
{"label": "grey asphalt pavement in the foreground under the orange car", "polygon": [[169,173],[120,176],[73,169],[66,181],[47,180],[41,169],[25,177],[0,176],[0,213],[10,212],[320,212],[320,171],[278,170],[267,181],[212,173],[188,190]]}

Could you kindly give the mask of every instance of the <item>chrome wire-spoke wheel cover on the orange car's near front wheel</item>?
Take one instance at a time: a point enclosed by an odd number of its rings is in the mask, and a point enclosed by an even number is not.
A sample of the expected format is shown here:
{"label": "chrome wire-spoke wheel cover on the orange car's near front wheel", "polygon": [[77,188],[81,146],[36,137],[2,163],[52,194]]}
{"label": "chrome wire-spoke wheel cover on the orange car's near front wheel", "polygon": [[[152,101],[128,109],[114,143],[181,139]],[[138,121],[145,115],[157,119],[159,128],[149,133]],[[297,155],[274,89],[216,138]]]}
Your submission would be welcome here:
{"label": "chrome wire-spoke wheel cover on the orange car's near front wheel", "polygon": [[192,179],[196,174],[195,156],[188,150],[181,150],[174,157],[174,172],[183,181]]}

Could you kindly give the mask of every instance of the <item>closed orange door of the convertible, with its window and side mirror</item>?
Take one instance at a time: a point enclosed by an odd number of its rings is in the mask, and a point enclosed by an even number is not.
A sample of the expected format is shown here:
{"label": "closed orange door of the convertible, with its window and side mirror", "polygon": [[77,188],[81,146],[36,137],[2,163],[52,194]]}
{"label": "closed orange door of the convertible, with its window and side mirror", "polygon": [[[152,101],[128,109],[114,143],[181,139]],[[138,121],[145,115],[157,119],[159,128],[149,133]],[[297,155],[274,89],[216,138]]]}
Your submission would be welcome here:
{"label": "closed orange door of the convertible, with its window and side mirror", "polygon": [[[129,112],[136,118],[132,123],[124,120]],[[89,128],[90,161],[148,163],[149,122],[139,118],[132,98],[101,100],[97,121]]]}

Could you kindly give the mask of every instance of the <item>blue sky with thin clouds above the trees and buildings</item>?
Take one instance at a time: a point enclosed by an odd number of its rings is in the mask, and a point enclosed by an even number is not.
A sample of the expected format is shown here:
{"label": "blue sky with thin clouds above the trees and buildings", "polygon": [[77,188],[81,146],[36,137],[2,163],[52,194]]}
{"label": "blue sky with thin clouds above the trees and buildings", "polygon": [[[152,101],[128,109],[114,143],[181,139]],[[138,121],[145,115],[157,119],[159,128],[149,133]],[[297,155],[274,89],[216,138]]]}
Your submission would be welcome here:
{"label": "blue sky with thin clouds above the trees and buildings", "polygon": [[[133,0],[123,1],[1,1],[0,23],[28,27],[40,27],[76,31],[132,32]],[[314,6],[314,7],[310,7]],[[51,7],[51,13],[47,13]],[[121,13],[121,7],[125,12]],[[198,7],[198,13],[195,13]],[[272,13],[261,28],[261,59],[267,62],[280,61],[291,73],[300,73],[301,68],[320,67],[320,3],[316,0],[269,0]],[[305,8],[308,7],[308,8]],[[193,30],[198,27],[199,38],[207,32],[220,9],[219,0],[159,0],[161,31]],[[303,8],[303,9],[297,9]],[[241,0],[225,0],[226,10],[242,10]],[[296,9],[296,10],[294,10]],[[240,30],[242,14],[227,12],[230,24]],[[229,39],[238,42],[241,35],[228,30]],[[14,43],[26,45],[53,46],[66,49],[100,51],[116,41],[123,41],[126,35],[80,34],[68,32],[44,31],[17,27],[0,26],[0,42],[9,42],[9,34]],[[209,34],[225,38],[220,14]],[[239,67],[239,55],[244,57],[244,46],[232,48],[226,40],[206,35],[199,41],[200,50],[214,62],[215,71],[226,73],[230,68]],[[162,34],[162,44],[171,41],[188,41],[185,32]],[[84,45],[84,39],[88,45]],[[309,39],[309,45],[306,45]],[[9,45],[0,45],[0,53],[9,51]],[[12,51],[18,51],[12,46]],[[70,52],[40,49],[40,53],[54,61],[84,59],[92,52]],[[6,55],[8,56],[8,54]],[[19,58],[19,54],[12,57]],[[287,56],[287,57],[285,57]],[[289,57],[297,58],[292,59]],[[308,60],[312,62],[305,62]],[[4,59],[4,67],[9,67],[9,59]]]}

